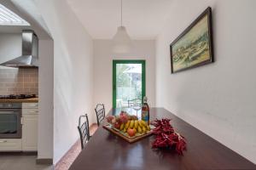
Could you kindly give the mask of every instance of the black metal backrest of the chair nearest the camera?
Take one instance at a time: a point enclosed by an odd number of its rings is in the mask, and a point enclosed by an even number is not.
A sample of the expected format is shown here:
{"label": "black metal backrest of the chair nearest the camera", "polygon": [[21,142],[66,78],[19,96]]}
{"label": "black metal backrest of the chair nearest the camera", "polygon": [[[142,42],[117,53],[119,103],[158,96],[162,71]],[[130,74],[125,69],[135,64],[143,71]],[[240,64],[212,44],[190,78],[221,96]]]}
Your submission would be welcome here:
{"label": "black metal backrest of the chair nearest the camera", "polygon": [[85,144],[90,139],[90,132],[89,132],[89,121],[87,114],[79,116],[79,135],[81,140],[81,147],[82,150],[84,149]]}

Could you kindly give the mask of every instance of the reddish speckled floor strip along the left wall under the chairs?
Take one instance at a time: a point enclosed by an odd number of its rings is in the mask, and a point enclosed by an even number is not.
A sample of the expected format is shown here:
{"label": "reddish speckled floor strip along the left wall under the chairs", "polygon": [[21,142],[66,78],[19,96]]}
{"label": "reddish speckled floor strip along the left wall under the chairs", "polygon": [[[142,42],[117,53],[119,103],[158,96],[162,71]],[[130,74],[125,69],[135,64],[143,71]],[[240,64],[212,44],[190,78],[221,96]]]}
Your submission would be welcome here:
{"label": "reddish speckled floor strip along the left wall under the chairs", "polygon": [[[95,133],[97,129],[97,125],[93,124],[90,126],[90,135]],[[59,161],[56,166],[55,170],[67,170],[73,161],[76,159],[77,156],[79,156],[79,153],[81,151],[81,143],[80,140],[73,145],[73,147],[67,152],[65,156],[61,158],[61,161]]]}

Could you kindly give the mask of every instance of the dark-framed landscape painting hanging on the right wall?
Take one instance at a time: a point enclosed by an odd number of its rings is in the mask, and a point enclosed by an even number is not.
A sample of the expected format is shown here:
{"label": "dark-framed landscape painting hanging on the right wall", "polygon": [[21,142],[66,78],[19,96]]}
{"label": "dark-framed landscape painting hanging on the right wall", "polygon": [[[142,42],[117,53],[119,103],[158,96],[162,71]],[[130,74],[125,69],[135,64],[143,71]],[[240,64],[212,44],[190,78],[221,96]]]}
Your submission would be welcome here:
{"label": "dark-framed landscape painting hanging on the right wall", "polygon": [[172,73],[213,62],[210,7],[171,43],[170,51]]}

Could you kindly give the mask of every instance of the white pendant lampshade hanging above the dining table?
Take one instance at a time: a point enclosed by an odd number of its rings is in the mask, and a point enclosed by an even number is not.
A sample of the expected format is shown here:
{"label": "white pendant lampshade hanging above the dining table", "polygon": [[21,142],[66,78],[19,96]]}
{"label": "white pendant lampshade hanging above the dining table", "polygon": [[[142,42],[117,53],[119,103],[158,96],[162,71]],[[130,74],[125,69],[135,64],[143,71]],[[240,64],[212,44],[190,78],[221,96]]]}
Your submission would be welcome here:
{"label": "white pendant lampshade hanging above the dining table", "polygon": [[113,53],[125,54],[131,51],[131,38],[129,37],[125,26],[119,26],[116,34],[113,36]]}

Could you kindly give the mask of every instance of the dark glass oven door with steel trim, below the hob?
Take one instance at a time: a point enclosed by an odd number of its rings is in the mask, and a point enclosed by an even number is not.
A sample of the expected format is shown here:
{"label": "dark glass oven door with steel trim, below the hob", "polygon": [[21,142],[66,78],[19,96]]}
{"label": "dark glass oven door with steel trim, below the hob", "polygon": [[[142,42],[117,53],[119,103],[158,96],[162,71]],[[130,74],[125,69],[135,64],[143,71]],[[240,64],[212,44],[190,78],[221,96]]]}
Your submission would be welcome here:
{"label": "dark glass oven door with steel trim, below the hob", "polygon": [[21,139],[20,119],[20,109],[0,109],[0,139]]}

